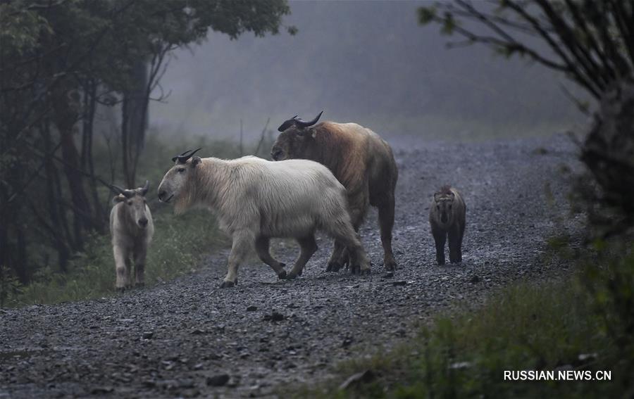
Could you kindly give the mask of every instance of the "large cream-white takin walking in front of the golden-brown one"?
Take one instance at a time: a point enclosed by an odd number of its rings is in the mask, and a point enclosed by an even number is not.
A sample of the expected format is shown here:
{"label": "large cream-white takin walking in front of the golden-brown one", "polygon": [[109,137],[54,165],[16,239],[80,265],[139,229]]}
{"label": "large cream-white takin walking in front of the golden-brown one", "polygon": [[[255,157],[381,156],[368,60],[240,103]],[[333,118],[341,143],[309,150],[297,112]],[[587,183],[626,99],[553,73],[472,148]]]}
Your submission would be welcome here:
{"label": "large cream-white takin walking in front of the golden-brown one", "polygon": [[[351,250],[352,272],[368,273],[370,261],[354,232],[346,190],[327,167],[311,160],[272,162],[254,156],[235,160],[200,158],[199,151],[172,158],[175,165],[159,185],[159,200],[175,212],[208,208],[232,237],[228,272],[221,288],[237,284],[237,270],[252,248],[280,279],[294,279],[317,251],[316,230]],[[274,237],[296,239],[299,258],[287,274],[269,253]]]}

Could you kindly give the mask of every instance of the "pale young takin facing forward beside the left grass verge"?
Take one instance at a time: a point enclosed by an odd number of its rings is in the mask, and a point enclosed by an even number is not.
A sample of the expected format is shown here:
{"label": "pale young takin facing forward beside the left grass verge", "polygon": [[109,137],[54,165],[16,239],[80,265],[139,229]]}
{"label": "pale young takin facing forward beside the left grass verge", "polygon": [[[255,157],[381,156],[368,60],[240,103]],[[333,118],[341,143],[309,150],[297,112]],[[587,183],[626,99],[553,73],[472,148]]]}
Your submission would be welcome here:
{"label": "pale young takin facing forward beside the left grass verge", "polygon": [[135,262],[135,284],[144,284],[145,257],[154,235],[154,221],[145,200],[148,187],[147,181],[143,187],[132,190],[112,186],[118,193],[112,199],[115,205],[110,212],[110,234],[119,291],[132,286],[130,258]]}

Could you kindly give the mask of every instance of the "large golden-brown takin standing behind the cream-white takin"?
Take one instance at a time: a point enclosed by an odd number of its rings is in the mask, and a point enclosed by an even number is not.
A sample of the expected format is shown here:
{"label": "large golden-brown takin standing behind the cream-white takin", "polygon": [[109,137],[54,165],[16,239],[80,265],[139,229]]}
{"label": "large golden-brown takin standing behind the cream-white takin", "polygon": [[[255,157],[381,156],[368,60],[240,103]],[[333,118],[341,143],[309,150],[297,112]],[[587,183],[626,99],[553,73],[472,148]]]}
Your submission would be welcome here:
{"label": "large golden-brown takin standing behind the cream-white takin", "polygon": [[[394,189],[398,169],[392,148],[371,129],[356,123],[304,121],[297,115],[278,128],[280,136],[273,144],[274,160],[304,158],[328,167],[347,190],[349,212],[356,231],[363,222],[368,205],[378,208],[383,243],[383,265],[397,267],[392,253],[394,227]],[[339,241],[328,261],[329,272],[348,262],[348,251]]]}

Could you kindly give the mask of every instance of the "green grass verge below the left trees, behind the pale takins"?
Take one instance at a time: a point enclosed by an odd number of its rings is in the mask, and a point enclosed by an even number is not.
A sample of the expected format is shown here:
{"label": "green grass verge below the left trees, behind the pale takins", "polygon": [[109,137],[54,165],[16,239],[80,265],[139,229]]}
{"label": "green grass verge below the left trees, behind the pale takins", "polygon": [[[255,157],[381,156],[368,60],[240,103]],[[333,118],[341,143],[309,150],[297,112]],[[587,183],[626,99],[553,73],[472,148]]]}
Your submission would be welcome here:
{"label": "green grass verge below the left trees, behind the pale takins", "polygon": [[[168,141],[149,135],[143,156],[139,160],[137,185],[149,180],[147,200],[154,218],[154,239],[152,240],[145,268],[146,286],[154,286],[184,274],[194,272],[206,255],[226,248],[230,239],[218,230],[215,217],[207,210],[190,210],[185,215],[174,215],[173,207],[159,203],[156,189],[164,173],[173,165],[171,158],[187,149],[202,147],[201,156],[218,158],[240,157],[238,145],[232,141],[212,141],[205,137],[188,141]],[[265,140],[260,156],[271,148],[271,140]],[[176,144],[178,143],[178,144]],[[253,153],[254,144],[249,143],[245,153]],[[102,175],[107,175],[111,158],[106,146],[100,146],[96,153],[97,166]],[[150,155],[151,154],[151,155]],[[113,163],[117,163],[116,159]],[[108,215],[113,194],[107,187],[99,189],[104,198],[104,209]],[[18,308],[26,305],[62,303],[111,296],[115,289],[115,266],[112,255],[111,237],[93,232],[86,237],[84,251],[75,253],[66,273],[56,266],[43,266],[35,272],[28,285],[20,285],[15,279],[0,279],[0,307]],[[42,249],[42,258],[53,258]],[[134,275],[134,274],[132,274]],[[8,283],[6,282],[8,281]]]}

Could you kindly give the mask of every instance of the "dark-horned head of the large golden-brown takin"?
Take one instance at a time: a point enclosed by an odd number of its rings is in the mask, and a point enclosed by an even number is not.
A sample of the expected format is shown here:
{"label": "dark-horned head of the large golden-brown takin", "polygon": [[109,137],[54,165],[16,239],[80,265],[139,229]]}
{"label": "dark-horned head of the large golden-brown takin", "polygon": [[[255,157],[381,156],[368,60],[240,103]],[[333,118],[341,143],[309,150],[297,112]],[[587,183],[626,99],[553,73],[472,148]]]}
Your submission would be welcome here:
{"label": "dark-horned head of the large golden-brown takin", "polygon": [[323,111],[313,120],[302,120],[295,115],[282,123],[278,127],[281,133],[271,148],[271,158],[273,160],[304,158],[309,143],[315,138],[309,127],[317,123],[322,113]]}

